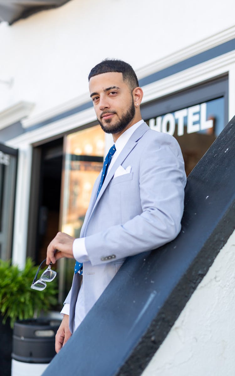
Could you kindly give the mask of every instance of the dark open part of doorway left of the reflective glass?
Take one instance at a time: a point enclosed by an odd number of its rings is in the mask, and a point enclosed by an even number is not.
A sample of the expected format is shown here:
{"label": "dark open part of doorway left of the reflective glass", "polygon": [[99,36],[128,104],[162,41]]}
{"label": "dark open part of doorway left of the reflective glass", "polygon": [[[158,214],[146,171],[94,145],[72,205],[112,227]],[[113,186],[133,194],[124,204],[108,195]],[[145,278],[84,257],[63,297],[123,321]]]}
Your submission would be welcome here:
{"label": "dark open part of doorway left of the reflective glass", "polygon": [[63,138],[33,149],[27,256],[36,264],[59,230]]}

